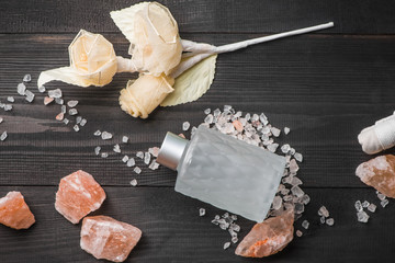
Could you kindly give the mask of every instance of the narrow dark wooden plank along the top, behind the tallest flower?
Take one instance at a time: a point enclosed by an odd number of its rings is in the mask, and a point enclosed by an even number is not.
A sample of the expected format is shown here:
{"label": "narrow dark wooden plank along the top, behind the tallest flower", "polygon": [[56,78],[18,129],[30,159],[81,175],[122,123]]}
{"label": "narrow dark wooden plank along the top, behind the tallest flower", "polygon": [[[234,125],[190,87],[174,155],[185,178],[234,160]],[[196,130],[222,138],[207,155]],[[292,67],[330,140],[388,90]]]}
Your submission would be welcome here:
{"label": "narrow dark wooden plank along the top, behind the tallest flower", "polygon": [[[109,13],[138,1],[1,1],[1,33],[119,32]],[[395,33],[394,1],[167,0],[181,32],[274,33],[334,21],[330,33]]]}

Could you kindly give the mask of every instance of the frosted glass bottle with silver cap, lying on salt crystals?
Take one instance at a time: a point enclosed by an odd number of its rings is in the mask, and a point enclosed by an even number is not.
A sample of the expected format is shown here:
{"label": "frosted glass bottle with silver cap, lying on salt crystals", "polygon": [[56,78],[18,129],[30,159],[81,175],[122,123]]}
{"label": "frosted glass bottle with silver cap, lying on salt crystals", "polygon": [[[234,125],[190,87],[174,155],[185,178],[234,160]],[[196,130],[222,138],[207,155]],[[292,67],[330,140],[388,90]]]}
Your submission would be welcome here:
{"label": "frosted glass bottle with silver cap, lying on salt crystals", "polygon": [[200,126],[189,141],[168,133],[157,162],[178,171],[176,191],[255,221],[263,221],[285,158]]}

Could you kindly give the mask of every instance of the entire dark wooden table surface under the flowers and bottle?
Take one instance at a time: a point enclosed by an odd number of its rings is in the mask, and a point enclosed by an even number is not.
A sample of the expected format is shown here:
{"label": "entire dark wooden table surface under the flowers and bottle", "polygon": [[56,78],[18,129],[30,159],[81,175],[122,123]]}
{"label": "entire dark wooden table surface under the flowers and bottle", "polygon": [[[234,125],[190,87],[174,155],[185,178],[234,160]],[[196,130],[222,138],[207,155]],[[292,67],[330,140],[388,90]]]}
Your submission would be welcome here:
{"label": "entire dark wooden table surface under the flowers and bottle", "polygon": [[[79,247],[80,225],[54,208],[59,179],[82,169],[103,185],[108,199],[95,215],[131,222],[144,232],[126,262],[394,262],[395,203],[379,205],[375,191],[354,175],[371,157],[358,144],[359,132],[390,115],[395,102],[395,1],[248,0],[162,1],[179,23],[182,38],[225,44],[329,21],[335,27],[261,44],[218,57],[211,90],[199,101],[158,108],[135,119],[119,107],[119,91],[135,75],[122,73],[103,88],[81,89],[61,82],[65,100],[79,100],[88,119],[79,133],[55,121],[59,105],[43,105],[35,82],[43,70],[68,65],[67,47],[80,28],[103,34],[119,55],[128,43],[109,12],[135,1],[0,1],[0,101],[15,96],[11,112],[1,111],[0,196],[21,191],[36,217],[29,230],[0,226],[0,262],[97,262]],[[16,94],[25,73],[35,94],[27,103]],[[230,104],[242,112],[264,112],[278,127],[289,126],[286,141],[304,153],[303,190],[311,195],[302,219],[311,221],[302,238],[283,252],[250,260],[224,251],[229,235],[211,224],[224,213],[173,191],[176,173],[160,168],[136,175],[112,153],[103,159],[95,146],[111,152],[127,135],[123,152],[134,155],[159,146],[166,132],[200,124],[203,110]],[[97,129],[114,133],[103,141]],[[391,150],[388,152],[395,152]],[[136,178],[138,186],[129,181]],[[357,221],[353,203],[373,202],[368,224]],[[335,226],[319,225],[325,205]],[[199,208],[207,215],[199,217]],[[239,219],[240,237],[253,225]]]}

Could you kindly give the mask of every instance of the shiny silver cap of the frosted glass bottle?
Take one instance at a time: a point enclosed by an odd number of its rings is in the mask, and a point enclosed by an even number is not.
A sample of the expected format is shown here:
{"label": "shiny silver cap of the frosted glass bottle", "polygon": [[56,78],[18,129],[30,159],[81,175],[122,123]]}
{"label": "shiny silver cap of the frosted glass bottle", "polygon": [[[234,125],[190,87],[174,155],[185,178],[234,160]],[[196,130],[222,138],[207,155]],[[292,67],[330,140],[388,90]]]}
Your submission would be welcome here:
{"label": "shiny silver cap of the frosted glass bottle", "polygon": [[188,139],[168,132],[160,147],[156,161],[176,171],[188,141]]}

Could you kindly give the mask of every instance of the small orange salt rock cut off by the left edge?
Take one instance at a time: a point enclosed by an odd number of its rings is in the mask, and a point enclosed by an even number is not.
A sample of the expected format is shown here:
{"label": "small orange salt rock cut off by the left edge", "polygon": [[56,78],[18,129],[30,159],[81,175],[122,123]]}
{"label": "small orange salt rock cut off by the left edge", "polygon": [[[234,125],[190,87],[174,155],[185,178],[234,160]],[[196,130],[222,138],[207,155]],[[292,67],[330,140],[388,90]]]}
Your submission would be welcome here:
{"label": "small orange salt rock cut off by the left edge", "polygon": [[0,198],[0,222],[14,229],[26,229],[35,222],[20,192],[9,192]]}

